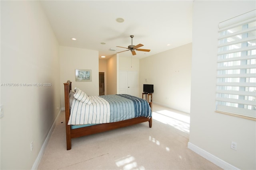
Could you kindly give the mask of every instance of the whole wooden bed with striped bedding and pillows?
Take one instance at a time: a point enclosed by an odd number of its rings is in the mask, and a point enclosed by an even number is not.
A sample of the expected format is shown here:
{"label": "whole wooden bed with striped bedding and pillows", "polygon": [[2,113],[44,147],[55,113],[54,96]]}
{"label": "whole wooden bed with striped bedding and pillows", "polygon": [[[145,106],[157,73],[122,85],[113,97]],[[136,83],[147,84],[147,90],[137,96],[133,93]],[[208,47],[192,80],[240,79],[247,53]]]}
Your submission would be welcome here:
{"label": "whole wooden bed with striped bedding and pillows", "polygon": [[[102,108],[108,108],[108,109],[99,109],[99,110],[104,110],[105,112],[109,112],[111,109],[111,113],[106,113],[106,116],[104,114],[101,114],[101,116],[95,116],[94,118],[90,119],[90,115],[87,115],[87,113],[82,113],[80,112],[78,115],[74,115],[74,113],[77,113],[78,110],[81,110],[80,108],[84,108],[85,106],[88,107],[88,105],[86,104],[80,104],[80,102],[84,102],[86,103],[86,101],[82,101],[84,100],[84,98],[78,103],[78,100],[80,100],[80,98],[78,98],[78,92],[76,92],[75,96],[76,99],[73,98],[73,91],[72,91],[72,82],[70,82],[70,80],[68,80],[66,83],[64,83],[64,94],[65,94],[65,120],[66,120],[66,144],[67,144],[67,150],[71,149],[71,140],[72,138],[76,138],[76,137],[82,137],[82,136],[86,136],[86,135],[92,135],[95,133],[100,133],[100,132],[104,132],[104,131],[109,131],[112,129],[117,129],[117,128],[121,128],[121,127],[126,127],[126,126],[130,126],[130,125],[134,125],[134,124],[138,124],[138,123],[143,123],[143,122],[149,122],[149,127],[152,127],[152,102],[146,102],[146,100],[144,99],[140,99],[140,98],[136,98],[134,96],[130,96],[130,95],[118,95],[116,94],[115,96],[117,96],[117,100],[118,103],[120,103],[120,105],[122,105],[122,109],[116,109],[116,115],[113,116],[112,115],[112,109],[115,106],[112,106],[113,104],[111,102],[106,102],[108,103],[108,106],[101,106]],[[76,89],[79,90],[80,89]],[[80,95],[81,96],[81,95]],[[79,96],[79,97],[80,97]],[[99,100],[99,103],[104,103],[102,101],[108,101],[108,96],[87,96],[90,97],[90,102],[92,102],[93,104],[90,103],[90,107],[92,105],[96,105],[95,101]],[[86,97],[86,100],[88,100],[88,98]],[[110,96],[111,98],[114,97],[114,95]],[[127,114],[128,112],[130,112],[131,108],[129,108],[129,110],[124,110],[124,106],[126,106],[126,104],[121,103],[120,99],[123,98],[128,98],[128,101],[133,101],[133,103],[136,103],[136,105],[134,106],[129,106],[129,107],[136,107],[135,110],[138,110],[138,105],[139,105],[139,109],[140,109],[140,113],[133,113],[135,114],[135,117],[133,118],[132,116],[130,116],[129,114]],[[130,99],[132,98],[132,99]],[[138,101],[142,101],[139,102]],[[136,101],[136,102],[134,102]],[[146,102],[146,104],[144,103]],[[111,104],[111,106],[110,106]],[[141,105],[141,106],[140,106]],[[143,107],[142,107],[143,105]],[[80,106],[80,107],[79,107]],[[145,106],[145,108],[144,108]],[[79,109],[78,109],[79,107]],[[147,108],[148,107],[148,108]],[[89,108],[89,107],[88,107]],[[110,109],[109,109],[110,108]],[[115,107],[117,108],[117,107]],[[142,109],[143,109],[143,113],[142,113]],[[127,107],[128,109],[128,107]],[[75,110],[75,111],[74,111]],[[90,110],[90,109],[89,109]],[[107,110],[107,111],[106,111]],[[134,110],[132,108],[132,110]],[[145,111],[146,110],[146,111]],[[144,113],[145,112],[145,113]],[[124,114],[125,113],[125,114]],[[98,113],[97,113],[98,114]],[[74,118],[76,117],[76,118]],[[79,117],[77,119],[77,117]]]}

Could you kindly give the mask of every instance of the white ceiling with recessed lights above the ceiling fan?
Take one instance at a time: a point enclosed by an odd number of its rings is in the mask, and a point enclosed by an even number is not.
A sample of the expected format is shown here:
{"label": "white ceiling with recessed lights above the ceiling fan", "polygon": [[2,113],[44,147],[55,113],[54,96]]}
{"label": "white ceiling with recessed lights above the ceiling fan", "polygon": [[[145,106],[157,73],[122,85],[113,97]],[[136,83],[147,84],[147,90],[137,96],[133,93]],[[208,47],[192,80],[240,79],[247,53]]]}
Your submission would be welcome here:
{"label": "white ceiling with recessed lights above the ceiling fan", "polygon": [[[62,46],[99,51],[106,59],[132,44],[143,44],[136,58],[148,57],[192,42],[193,1],[41,1]],[[118,23],[117,18],[123,18]],[[72,41],[71,38],[76,38]],[[102,45],[101,43],[106,43]],[[170,46],[167,46],[170,44]],[[110,51],[109,49],[116,49]],[[119,53],[131,57],[130,51]]]}

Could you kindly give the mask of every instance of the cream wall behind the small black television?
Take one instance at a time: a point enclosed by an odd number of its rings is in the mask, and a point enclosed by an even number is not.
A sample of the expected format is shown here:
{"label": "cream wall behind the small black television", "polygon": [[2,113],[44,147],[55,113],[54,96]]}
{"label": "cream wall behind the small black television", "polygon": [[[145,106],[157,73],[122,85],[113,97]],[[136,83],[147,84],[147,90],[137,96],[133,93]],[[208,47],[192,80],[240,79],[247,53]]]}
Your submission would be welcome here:
{"label": "cream wall behind the small black television", "polygon": [[153,103],[190,113],[191,58],[189,43],[140,59],[140,92],[154,84]]}

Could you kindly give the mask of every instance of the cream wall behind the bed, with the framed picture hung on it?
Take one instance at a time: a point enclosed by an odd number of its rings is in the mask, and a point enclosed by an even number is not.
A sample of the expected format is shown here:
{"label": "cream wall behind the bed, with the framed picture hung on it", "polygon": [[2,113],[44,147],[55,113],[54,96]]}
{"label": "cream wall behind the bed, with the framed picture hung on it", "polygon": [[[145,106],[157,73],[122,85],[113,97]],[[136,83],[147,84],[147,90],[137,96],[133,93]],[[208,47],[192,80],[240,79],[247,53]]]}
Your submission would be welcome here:
{"label": "cream wall behind the bed, with the framed picture hung on it", "polygon": [[[76,69],[92,70],[92,81],[76,82]],[[99,95],[98,51],[60,46],[61,107],[65,107],[64,84],[70,80],[72,90],[79,88],[88,96]]]}

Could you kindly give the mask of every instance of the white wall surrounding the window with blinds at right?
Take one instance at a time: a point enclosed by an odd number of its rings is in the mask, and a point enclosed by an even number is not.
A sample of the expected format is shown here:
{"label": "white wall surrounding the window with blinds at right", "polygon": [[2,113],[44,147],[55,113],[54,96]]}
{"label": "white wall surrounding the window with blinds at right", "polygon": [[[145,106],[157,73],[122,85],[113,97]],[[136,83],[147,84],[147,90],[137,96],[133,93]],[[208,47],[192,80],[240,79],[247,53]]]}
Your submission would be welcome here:
{"label": "white wall surrounding the window with blinds at right", "polygon": [[[218,23],[255,6],[255,1],[194,2],[189,138],[189,144],[250,170],[256,169],[256,122],[214,111]],[[230,149],[231,141],[237,150]]]}

